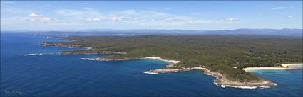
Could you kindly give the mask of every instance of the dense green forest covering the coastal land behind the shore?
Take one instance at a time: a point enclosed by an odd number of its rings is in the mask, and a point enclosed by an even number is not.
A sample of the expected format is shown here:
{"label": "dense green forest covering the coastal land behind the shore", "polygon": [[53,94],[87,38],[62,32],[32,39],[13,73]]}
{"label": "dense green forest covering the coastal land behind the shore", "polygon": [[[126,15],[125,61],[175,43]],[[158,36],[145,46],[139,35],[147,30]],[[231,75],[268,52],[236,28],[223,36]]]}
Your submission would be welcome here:
{"label": "dense green forest covering the coastal land behind the shore", "polygon": [[[176,68],[206,67],[232,81],[252,81],[259,77],[245,67],[280,67],[281,63],[302,62],[302,38],[248,35],[143,35],[67,37],[63,45],[93,47],[72,53],[126,52],[109,58],[163,57],[180,60]],[[58,43],[53,43],[54,45]]]}

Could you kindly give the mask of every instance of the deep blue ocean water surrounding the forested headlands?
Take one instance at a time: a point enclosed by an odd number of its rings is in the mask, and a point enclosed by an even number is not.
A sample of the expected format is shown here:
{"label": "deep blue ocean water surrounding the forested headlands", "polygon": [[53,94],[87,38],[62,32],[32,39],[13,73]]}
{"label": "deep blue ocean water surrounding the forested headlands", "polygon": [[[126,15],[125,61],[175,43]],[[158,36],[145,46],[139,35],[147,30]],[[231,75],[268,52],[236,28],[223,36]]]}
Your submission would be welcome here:
{"label": "deep blue ocean water surrounding the forested headlands", "polygon": [[[101,62],[80,58],[106,55],[58,55],[77,48],[41,46],[64,41],[43,36],[1,33],[1,96],[302,96],[302,69],[252,71],[279,84],[269,89],[222,88],[201,71],[143,73],[168,62]],[[22,56],[36,53],[46,54]]]}

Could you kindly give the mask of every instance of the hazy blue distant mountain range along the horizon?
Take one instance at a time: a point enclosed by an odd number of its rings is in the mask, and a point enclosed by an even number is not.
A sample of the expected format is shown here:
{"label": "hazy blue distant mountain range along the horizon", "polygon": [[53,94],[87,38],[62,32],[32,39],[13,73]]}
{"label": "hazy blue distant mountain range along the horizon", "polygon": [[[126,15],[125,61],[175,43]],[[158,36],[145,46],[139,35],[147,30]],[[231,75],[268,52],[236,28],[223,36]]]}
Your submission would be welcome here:
{"label": "hazy blue distant mountain range along the horizon", "polygon": [[[1,31],[14,32],[14,31]],[[16,31],[15,31],[16,32]],[[26,33],[89,33],[89,34],[111,34],[111,35],[275,35],[275,36],[297,36],[302,37],[302,29],[236,29],[236,30],[112,30],[112,29],[90,29],[90,30],[66,30],[66,31],[22,31]]]}

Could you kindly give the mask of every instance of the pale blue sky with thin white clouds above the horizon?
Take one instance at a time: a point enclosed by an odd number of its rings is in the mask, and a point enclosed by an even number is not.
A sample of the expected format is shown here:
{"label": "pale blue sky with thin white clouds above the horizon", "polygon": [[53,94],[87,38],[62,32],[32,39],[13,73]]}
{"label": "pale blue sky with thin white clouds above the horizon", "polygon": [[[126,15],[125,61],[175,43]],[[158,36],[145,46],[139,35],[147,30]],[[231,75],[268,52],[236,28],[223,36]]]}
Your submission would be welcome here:
{"label": "pale blue sky with thin white clouds above the horizon", "polygon": [[302,29],[302,1],[1,1],[1,30]]}

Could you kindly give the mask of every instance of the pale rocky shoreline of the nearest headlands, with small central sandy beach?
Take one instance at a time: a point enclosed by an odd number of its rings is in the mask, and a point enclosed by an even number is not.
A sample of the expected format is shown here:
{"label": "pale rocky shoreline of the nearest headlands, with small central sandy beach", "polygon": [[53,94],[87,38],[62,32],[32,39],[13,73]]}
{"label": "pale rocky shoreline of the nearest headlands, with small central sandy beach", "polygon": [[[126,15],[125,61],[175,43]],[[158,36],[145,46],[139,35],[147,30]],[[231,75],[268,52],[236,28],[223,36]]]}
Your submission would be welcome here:
{"label": "pale rocky shoreline of the nearest headlands, with small central sandy beach", "polygon": [[[137,57],[137,58],[123,58],[123,59],[111,59],[111,58],[81,58],[85,60],[98,60],[98,61],[127,61],[127,60],[138,60],[138,59],[158,59],[165,62],[171,62],[172,64],[167,65],[166,67],[175,67],[174,64],[177,64],[180,61],[177,60],[168,60],[161,57]],[[262,79],[261,81],[250,81],[250,82],[240,82],[240,81],[230,81],[223,74],[219,72],[211,72],[210,70],[203,67],[190,67],[190,68],[180,68],[180,69],[153,69],[150,71],[145,71],[145,74],[162,74],[162,73],[174,73],[174,72],[186,72],[191,70],[202,70],[205,74],[214,76],[216,79],[213,83],[222,88],[233,87],[241,89],[256,89],[256,88],[269,88],[270,86],[276,86],[277,83],[269,81],[267,79]]]}

